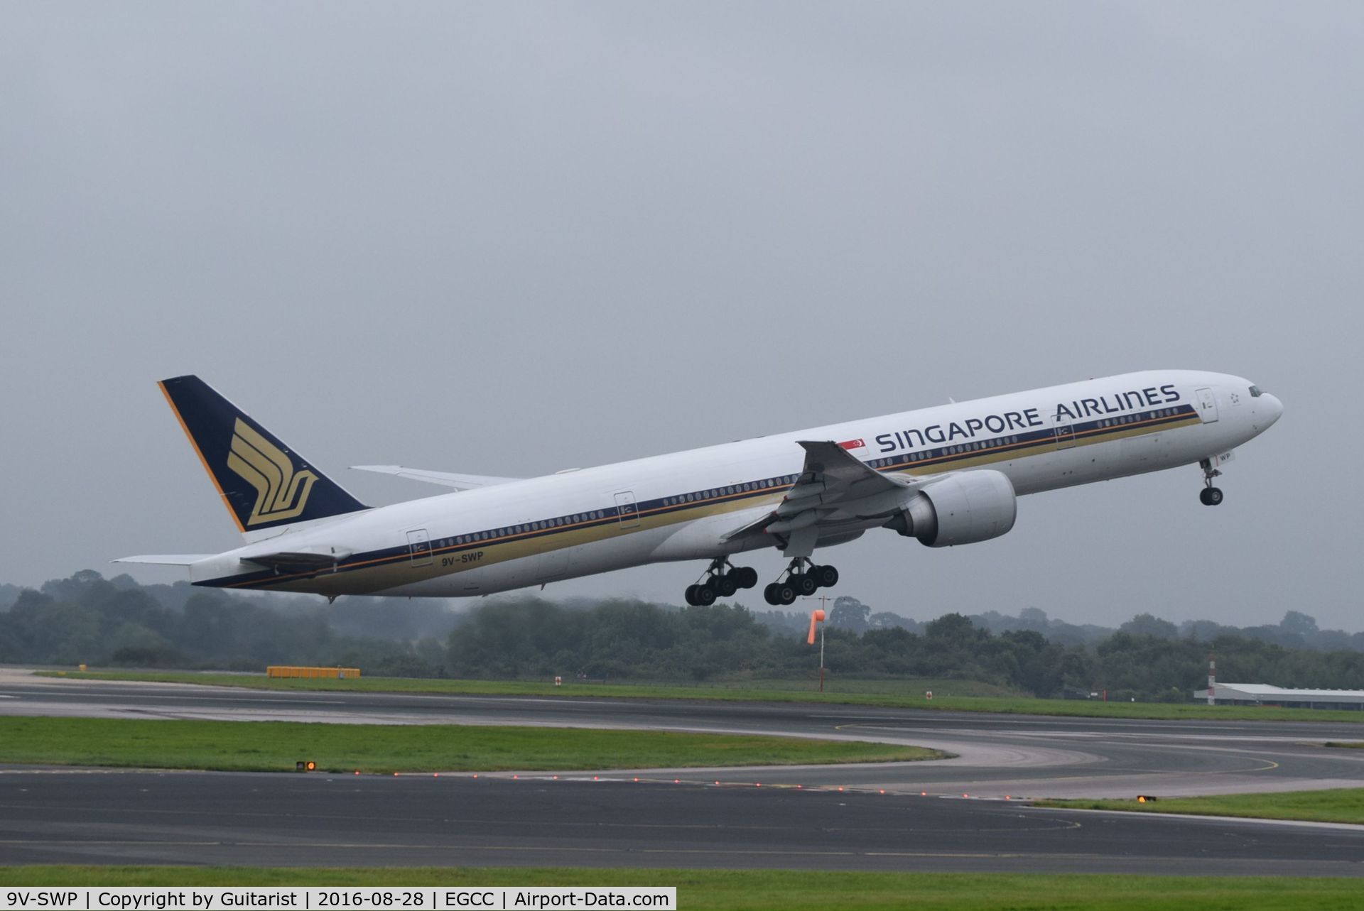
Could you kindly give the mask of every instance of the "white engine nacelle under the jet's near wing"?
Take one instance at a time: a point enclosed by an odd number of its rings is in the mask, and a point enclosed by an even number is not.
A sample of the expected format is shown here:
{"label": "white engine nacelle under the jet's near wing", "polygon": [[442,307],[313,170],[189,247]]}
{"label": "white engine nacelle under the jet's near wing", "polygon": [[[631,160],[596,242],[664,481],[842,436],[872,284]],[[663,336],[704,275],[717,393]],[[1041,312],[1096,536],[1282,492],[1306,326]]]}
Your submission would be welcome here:
{"label": "white engine nacelle under the jet's near wing", "polygon": [[1013,528],[1018,496],[1004,472],[962,472],[926,484],[889,522],[928,547],[988,541]]}

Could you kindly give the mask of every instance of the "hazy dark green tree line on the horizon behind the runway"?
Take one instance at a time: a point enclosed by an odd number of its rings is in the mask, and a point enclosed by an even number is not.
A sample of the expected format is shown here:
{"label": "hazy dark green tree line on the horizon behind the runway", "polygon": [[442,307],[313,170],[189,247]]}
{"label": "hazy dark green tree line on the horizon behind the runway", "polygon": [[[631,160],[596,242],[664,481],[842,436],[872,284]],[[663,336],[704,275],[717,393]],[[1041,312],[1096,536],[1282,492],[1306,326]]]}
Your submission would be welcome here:
{"label": "hazy dark green tree line on the horizon behind the runway", "polygon": [[[805,641],[809,614],[737,604],[512,595],[464,610],[382,597],[326,606],[183,582],[143,586],[91,570],[14,591],[0,603],[0,661],[11,664],[342,664],[371,675],[615,681],[802,678],[816,664]],[[971,679],[1039,697],[1103,689],[1109,698],[1184,702],[1206,681],[1215,652],[1224,681],[1364,689],[1364,652],[1352,637],[1344,648],[1311,641],[1322,641],[1322,631],[1297,611],[1275,627],[1249,630],[1176,626],[1148,614],[1105,630],[1037,608],[919,622],[840,597],[829,611],[825,664],[843,676]]]}

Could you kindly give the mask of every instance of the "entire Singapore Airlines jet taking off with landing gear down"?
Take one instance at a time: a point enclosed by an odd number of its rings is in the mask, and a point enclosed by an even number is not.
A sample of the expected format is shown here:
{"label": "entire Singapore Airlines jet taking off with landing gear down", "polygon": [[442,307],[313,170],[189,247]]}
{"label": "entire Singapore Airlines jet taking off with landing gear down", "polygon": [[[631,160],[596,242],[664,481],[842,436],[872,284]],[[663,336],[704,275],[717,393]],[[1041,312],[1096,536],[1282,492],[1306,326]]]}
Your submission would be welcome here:
{"label": "entire Singapore Airlines jet taking off with landing gear down", "polygon": [[1016,498],[1199,465],[1209,506],[1232,449],[1284,413],[1239,376],[1124,374],[1027,393],[514,479],[357,465],[451,487],[367,507],[198,376],[161,382],[246,546],[128,556],[195,585],[468,596],[663,561],[709,561],[689,604],[757,585],[730,558],[790,561],[764,595],[791,604],[837,582],[816,548],[887,528],[929,547],[1013,528]]}

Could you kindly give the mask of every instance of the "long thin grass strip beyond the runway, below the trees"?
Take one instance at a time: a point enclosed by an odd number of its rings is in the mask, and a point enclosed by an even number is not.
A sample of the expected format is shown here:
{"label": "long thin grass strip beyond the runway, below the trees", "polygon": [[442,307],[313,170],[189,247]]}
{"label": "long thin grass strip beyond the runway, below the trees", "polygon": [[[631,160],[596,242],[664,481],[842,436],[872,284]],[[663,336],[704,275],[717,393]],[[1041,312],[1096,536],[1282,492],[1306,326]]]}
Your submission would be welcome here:
{"label": "long thin grass strip beyond the runway, below the trees", "polygon": [[[824,702],[1005,715],[1058,715],[1158,720],[1364,721],[1364,712],[1285,709],[1277,706],[1202,705],[1192,702],[1103,702],[1098,700],[1038,700],[971,681],[831,679],[824,693],[814,681],[743,681],[734,683],[578,683],[554,686],[533,681],[449,681],[366,676],[359,681],[267,678],[263,674],[198,674],[192,671],[40,671],[42,676],[94,681],[199,683],[258,690],[352,690],[361,693],[449,693],[472,696],[559,696],[656,700],[726,700]],[[933,698],[925,698],[932,690]]]}

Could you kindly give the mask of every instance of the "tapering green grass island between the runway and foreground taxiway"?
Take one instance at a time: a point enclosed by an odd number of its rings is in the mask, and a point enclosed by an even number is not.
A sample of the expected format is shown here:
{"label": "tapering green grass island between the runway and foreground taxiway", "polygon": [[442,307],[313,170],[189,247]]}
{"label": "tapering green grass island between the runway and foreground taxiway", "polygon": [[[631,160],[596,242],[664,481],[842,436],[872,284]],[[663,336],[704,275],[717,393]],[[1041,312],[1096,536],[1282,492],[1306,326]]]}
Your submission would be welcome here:
{"label": "tapering green grass island between the runway and foreground taxiway", "polygon": [[494,772],[941,758],[865,741],[456,724],[0,717],[0,762],[235,772]]}

